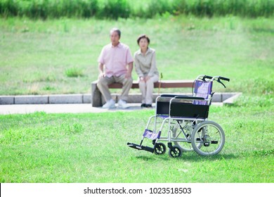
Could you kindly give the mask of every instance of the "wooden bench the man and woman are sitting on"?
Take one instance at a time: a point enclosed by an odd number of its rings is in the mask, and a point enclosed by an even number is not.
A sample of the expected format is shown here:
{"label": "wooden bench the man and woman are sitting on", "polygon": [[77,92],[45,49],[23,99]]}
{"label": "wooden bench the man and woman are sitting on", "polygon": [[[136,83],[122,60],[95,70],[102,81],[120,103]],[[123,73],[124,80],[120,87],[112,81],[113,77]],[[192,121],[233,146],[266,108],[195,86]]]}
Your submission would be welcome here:
{"label": "wooden bench the man and woman are sitting on", "polygon": [[[105,99],[103,98],[102,94],[100,93],[97,82],[94,81],[91,83],[91,102],[93,107],[100,107],[103,106],[105,103]],[[155,88],[192,88],[193,87],[193,80],[163,80],[162,82],[156,82],[154,84]],[[110,89],[122,89],[122,84],[114,83],[108,86]],[[133,81],[132,89],[138,89],[139,84],[137,81]]]}

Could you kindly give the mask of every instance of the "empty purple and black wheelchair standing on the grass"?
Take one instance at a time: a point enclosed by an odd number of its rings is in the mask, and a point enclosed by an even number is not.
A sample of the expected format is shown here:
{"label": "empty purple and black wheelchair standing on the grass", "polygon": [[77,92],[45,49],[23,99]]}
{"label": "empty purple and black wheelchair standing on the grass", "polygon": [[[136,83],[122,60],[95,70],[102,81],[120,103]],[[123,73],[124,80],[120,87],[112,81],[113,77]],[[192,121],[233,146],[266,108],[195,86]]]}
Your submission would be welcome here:
{"label": "empty purple and black wheelchair standing on the grass", "polygon": [[[221,76],[199,75],[193,82],[193,96],[158,96],[155,115],[149,118],[141,143],[128,142],[127,146],[156,155],[166,153],[168,146],[171,158],[181,157],[185,151],[195,151],[203,156],[218,154],[225,144],[225,133],[220,125],[208,120],[208,115],[215,93],[212,91],[213,82],[223,84],[221,80],[230,81]],[[223,87],[226,88],[224,84]],[[165,130],[167,136],[162,136]],[[150,139],[153,147],[143,146],[144,139]]]}

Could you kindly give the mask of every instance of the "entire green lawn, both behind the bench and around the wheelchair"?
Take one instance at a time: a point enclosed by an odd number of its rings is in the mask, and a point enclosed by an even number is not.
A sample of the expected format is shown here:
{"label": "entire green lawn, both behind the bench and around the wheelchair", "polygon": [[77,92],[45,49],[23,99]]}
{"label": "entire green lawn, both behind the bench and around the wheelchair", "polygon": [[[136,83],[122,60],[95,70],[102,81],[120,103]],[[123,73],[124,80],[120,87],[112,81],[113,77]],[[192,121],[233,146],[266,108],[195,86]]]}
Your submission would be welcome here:
{"label": "entire green lawn, both behind the bench and around the wheelchair", "polygon": [[0,115],[0,182],[274,182],[272,18],[1,18],[0,95],[90,93],[112,27],[131,53],[138,34],[150,36],[163,80],[223,75],[230,82],[216,92],[244,93],[233,106],[211,106],[209,120],[226,133],[221,153],[173,159],[128,148],[153,110]]}

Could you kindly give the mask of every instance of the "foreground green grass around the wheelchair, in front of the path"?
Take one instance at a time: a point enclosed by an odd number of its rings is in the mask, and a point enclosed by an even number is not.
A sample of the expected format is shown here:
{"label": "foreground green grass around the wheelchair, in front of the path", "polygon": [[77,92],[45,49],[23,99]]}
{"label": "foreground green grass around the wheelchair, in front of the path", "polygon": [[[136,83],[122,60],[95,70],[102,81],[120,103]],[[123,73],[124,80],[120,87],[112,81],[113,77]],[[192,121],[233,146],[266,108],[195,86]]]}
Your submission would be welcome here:
{"label": "foreground green grass around the wheelchair, in front of the path", "polygon": [[272,104],[211,106],[209,120],[226,133],[223,150],[211,157],[188,152],[178,159],[126,146],[140,142],[153,110],[0,115],[0,182],[270,183],[273,110]]}

